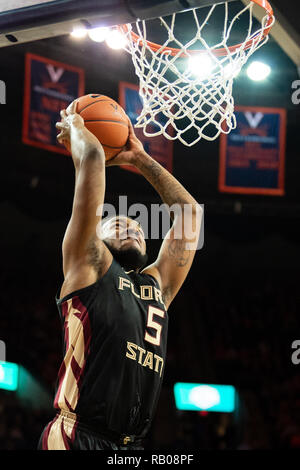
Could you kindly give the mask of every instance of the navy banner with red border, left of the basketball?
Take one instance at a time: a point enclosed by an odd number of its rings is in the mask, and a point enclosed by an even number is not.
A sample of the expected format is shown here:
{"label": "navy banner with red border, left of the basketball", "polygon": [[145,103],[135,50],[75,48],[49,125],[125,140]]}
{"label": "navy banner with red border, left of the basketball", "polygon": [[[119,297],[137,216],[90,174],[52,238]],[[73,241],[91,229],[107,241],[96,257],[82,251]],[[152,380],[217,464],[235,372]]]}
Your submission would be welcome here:
{"label": "navy banner with red border, left of the basketball", "polygon": [[45,57],[25,56],[22,140],[25,144],[69,155],[56,140],[60,110],[84,95],[84,71]]}

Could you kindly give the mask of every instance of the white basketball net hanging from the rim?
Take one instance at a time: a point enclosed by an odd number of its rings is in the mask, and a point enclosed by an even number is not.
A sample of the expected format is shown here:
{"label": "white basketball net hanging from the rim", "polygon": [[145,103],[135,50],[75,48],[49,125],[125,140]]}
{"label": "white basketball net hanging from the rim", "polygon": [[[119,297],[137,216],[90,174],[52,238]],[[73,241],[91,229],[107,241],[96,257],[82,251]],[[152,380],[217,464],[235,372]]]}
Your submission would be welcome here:
{"label": "white basketball net hanging from the rim", "polygon": [[[266,43],[266,30],[274,23],[274,17],[270,19],[270,15],[266,15],[257,28],[253,6],[251,1],[231,19],[228,3],[214,5],[208,13],[205,9],[205,16],[202,8],[185,12],[193,18],[195,29],[191,31],[191,23],[187,23],[186,35],[192,34],[193,37],[184,44],[175,37],[176,19],[182,13],[160,17],[160,29],[166,39],[157,50],[149,47],[147,40],[153,39],[147,37],[145,21],[135,23],[137,40],[133,39],[132,33],[135,31],[132,25],[120,27],[126,36],[125,49],[132,55],[140,80],[143,109],[136,127],[143,128],[146,136],[163,134],[167,139],[179,139],[183,144],[192,146],[202,138],[215,140],[220,133],[228,134],[236,127],[233,80],[248,58]],[[221,40],[210,45],[206,30],[210,28],[211,35],[213,15],[220,7],[224,8],[225,13]],[[241,31],[238,23],[245,16],[247,36],[238,46],[230,47],[230,44],[236,44],[237,31],[244,34],[244,28]],[[213,33],[216,37],[220,31]],[[178,49],[178,52],[171,55],[171,48]],[[221,48],[223,51],[220,53]],[[195,70],[197,61],[198,70]]]}

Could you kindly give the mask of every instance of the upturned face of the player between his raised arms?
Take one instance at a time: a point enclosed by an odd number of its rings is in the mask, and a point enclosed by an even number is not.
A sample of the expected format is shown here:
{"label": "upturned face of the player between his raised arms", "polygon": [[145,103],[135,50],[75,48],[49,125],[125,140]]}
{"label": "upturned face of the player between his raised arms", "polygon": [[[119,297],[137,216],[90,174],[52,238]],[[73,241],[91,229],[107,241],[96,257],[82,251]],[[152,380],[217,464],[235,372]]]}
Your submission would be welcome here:
{"label": "upturned face of the player between his raised arms", "polygon": [[104,224],[102,238],[115,250],[135,249],[146,253],[145,235],[141,225],[129,217],[114,217]]}

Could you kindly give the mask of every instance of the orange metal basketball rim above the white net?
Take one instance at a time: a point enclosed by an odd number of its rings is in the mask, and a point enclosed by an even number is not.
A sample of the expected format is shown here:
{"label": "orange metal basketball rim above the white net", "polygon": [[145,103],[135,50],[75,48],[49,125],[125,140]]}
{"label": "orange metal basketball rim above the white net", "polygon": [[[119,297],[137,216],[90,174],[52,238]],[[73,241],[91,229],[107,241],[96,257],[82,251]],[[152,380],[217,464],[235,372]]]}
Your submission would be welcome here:
{"label": "orange metal basketball rim above the white net", "polygon": [[[252,39],[249,39],[249,41],[247,41],[244,45],[243,45],[243,43],[240,43],[240,44],[236,44],[235,46],[230,46],[228,48],[220,48],[220,49],[212,50],[212,53],[215,56],[224,57],[224,56],[228,55],[229,53],[234,53],[237,49],[241,48],[242,46],[244,46],[243,47],[244,50],[250,49],[250,47],[253,45],[253,43],[261,42],[263,40],[263,38],[265,38],[269,34],[269,32],[272,28],[273,20],[274,20],[273,8],[271,7],[270,3],[267,0],[250,0],[250,1],[252,3],[256,3],[258,6],[262,7],[268,15],[268,20],[267,20],[266,26],[264,27],[263,35],[261,36],[261,38],[260,38],[259,35],[255,35]],[[128,33],[129,32],[128,26],[126,24],[120,25],[119,29],[123,33]],[[131,35],[132,40],[134,42],[137,43],[137,42],[142,41],[140,36],[138,34],[134,33],[133,31],[130,31],[129,34]],[[155,42],[151,42],[151,41],[147,41],[147,40],[146,40],[146,42],[147,42],[148,47],[153,52],[158,52],[162,47],[160,44],[156,44]],[[171,56],[175,56],[180,52],[181,52],[181,54],[179,54],[179,55],[187,57],[187,56],[193,55],[193,54],[205,53],[206,51],[203,50],[203,49],[199,49],[199,50],[189,49],[186,52],[184,52],[184,51],[181,51],[181,49],[176,49],[174,47],[164,47],[163,49],[161,49],[160,54],[167,53]]]}

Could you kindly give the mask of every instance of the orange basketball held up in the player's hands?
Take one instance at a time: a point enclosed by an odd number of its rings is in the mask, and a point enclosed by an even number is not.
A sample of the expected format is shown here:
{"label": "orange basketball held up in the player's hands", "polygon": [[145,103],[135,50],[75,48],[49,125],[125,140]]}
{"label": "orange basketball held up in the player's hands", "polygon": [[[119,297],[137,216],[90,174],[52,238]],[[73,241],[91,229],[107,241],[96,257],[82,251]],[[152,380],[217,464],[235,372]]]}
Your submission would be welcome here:
{"label": "orange basketball held up in the player's hands", "polygon": [[128,139],[128,118],[124,109],[108,96],[90,94],[77,100],[76,112],[101,142],[106,160],[117,155]]}

